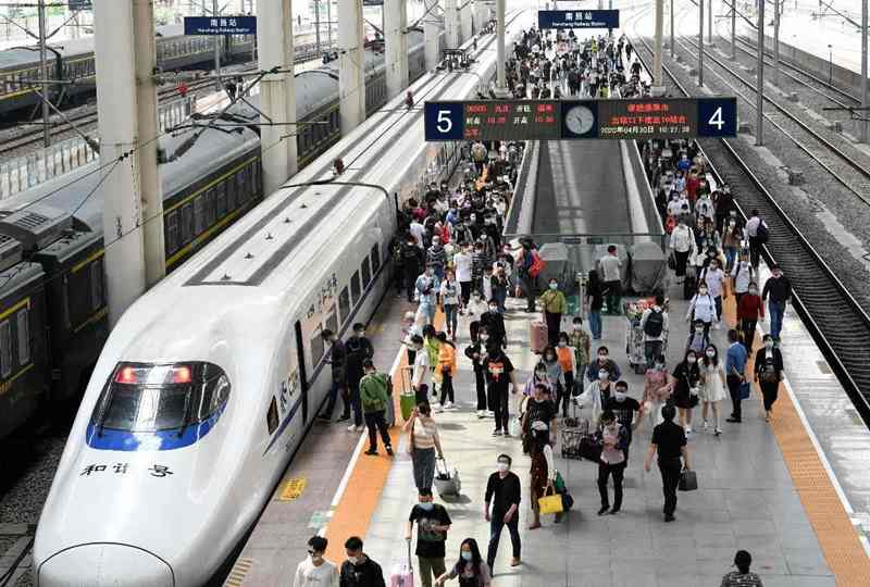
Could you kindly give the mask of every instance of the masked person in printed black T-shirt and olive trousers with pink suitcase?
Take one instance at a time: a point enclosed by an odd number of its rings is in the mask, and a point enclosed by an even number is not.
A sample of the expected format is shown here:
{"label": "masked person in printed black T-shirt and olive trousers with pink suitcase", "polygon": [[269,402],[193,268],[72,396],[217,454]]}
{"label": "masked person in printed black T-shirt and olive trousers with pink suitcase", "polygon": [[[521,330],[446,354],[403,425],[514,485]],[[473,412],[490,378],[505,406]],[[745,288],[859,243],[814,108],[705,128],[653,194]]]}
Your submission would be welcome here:
{"label": "masked person in printed black T-shirt and olive trousers with pink suitcase", "polygon": [[417,522],[417,560],[420,566],[420,582],[423,587],[432,587],[433,577],[437,580],[445,573],[445,542],[450,529],[450,514],[444,505],[435,503],[431,489],[421,489],[418,503],[408,516],[405,539],[411,541]]}

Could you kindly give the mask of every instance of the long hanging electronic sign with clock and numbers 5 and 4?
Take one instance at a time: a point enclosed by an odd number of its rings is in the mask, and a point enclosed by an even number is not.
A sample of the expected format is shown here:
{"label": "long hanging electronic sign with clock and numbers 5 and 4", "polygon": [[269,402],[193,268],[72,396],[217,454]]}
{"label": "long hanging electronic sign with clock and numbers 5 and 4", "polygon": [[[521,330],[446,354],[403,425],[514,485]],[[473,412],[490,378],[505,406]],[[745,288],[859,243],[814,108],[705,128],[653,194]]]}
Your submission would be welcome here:
{"label": "long hanging electronic sign with clock and numbers 5 and 4", "polygon": [[572,140],[734,137],[736,98],[425,102],[425,137]]}

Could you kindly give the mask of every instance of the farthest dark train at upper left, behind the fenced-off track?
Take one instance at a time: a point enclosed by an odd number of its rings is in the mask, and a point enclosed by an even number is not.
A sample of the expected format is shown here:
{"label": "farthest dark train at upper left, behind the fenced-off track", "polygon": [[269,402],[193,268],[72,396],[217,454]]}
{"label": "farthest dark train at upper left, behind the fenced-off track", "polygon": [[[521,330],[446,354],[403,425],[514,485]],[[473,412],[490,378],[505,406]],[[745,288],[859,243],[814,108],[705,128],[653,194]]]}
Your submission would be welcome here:
{"label": "farthest dark train at upper left, behind the fenced-off track", "polygon": [[[159,26],[154,34],[157,64],[164,72],[198,65],[211,66],[214,63],[215,42],[219,43],[222,63],[247,61],[253,53],[252,35],[187,36],[184,25]],[[297,62],[319,58],[313,34],[297,36],[294,40]],[[96,92],[92,84],[97,72],[94,37],[51,43],[48,51],[49,79],[55,82],[49,86],[52,102],[59,103],[61,96],[74,99]],[[39,67],[38,47],[0,51],[0,116],[38,103],[39,97],[34,89],[40,89],[35,83],[42,79]],[[67,82],[78,82],[78,85]]]}

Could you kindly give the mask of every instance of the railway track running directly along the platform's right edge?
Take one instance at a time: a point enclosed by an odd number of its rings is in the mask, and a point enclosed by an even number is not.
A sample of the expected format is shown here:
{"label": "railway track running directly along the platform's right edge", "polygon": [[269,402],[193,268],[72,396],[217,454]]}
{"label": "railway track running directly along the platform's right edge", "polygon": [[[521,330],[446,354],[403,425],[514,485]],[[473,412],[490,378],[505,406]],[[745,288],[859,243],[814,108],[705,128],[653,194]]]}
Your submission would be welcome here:
{"label": "railway track running directly along the platform's right edge", "polygon": [[[635,49],[643,48],[644,55],[638,58],[646,66],[652,50],[646,39],[636,34],[634,37],[639,42]],[[663,66],[663,71],[679,91],[691,96],[670,68]],[[866,350],[870,348],[870,316],[730,142],[699,139],[698,143],[717,182],[722,182],[725,175],[716,165],[737,171],[729,173],[726,178],[737,195],[741,213],[746,216],[746,211],[757,209],[768,222],[770,241],[766,257],[775,260],[788,275],[794,286],[795,309],[857,411],[870,425],[870,363]]]}

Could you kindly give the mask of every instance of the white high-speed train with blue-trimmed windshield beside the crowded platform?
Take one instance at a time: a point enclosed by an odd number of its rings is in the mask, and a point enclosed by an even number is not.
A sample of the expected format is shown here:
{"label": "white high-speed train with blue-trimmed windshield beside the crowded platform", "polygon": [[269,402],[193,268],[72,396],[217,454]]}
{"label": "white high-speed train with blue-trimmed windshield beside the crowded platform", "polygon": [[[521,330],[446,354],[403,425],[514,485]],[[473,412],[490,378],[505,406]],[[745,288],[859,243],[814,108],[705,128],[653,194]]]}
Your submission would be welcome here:
{"label": "white high-speed train with blue-trimmed windshield beside the crowded platform", "polygon": [[[515,38],[530,13],[508,22]],[[472,51],[485,79],[494,46],[489,35]],[[437,72],[412,91],[422,103],[477,85]],[[389,284],[397,201],[448,177],[458,147],[424,142],[423,109],[397,97],[127,310],[42,510],[40,587],[211,578],[325,399],[321,333],[370,319]],[[347,166],[333,180],[337,157]]]}

